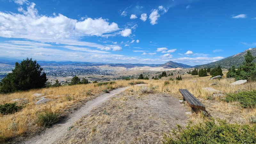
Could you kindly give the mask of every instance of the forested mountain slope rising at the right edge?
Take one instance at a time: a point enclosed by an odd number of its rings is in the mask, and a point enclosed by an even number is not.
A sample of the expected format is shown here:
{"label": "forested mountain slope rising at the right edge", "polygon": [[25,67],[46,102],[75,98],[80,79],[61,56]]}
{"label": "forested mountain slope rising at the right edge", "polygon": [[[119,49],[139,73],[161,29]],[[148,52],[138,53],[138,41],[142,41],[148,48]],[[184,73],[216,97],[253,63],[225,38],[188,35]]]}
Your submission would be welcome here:
{"label": "forested mountain slope rising at the right edge", "polygon": [[[248,50],[250,50],[252,52],[253,56],[256,56],[256,48],[250,48]],[[213,68],[213,67],[217,67],[219,65],[222,68],[229,68],[232,65],[239,67],[242,64],[242,62],[244,61],[244,55],[246,54],[246,52],[248,50],[245,50],[244,52],[237,53],[235,55],[232,55],[232,56],[227,57],[222,60],[218,60],[218,61],[211,62],[211,63],[204,64],[204,65],[197,65],[194,67],[195,68],[207,68],[207,67]],[[254,60],[254,62],[256,62],[256,60]]]}

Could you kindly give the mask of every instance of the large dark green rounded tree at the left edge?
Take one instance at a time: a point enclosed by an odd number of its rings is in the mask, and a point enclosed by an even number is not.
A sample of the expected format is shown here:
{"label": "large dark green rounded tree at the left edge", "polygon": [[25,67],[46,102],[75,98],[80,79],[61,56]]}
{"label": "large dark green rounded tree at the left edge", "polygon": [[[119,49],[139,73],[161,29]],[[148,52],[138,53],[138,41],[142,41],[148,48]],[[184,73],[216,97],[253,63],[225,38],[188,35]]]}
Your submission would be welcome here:
{"label": "large dark green rounded tree at the left edge", "polygon": [[12,73],[7,74],[0,82],[0,92],[10,93],[45,87],[47,78],[42,70],[32,58],[16,62]]}

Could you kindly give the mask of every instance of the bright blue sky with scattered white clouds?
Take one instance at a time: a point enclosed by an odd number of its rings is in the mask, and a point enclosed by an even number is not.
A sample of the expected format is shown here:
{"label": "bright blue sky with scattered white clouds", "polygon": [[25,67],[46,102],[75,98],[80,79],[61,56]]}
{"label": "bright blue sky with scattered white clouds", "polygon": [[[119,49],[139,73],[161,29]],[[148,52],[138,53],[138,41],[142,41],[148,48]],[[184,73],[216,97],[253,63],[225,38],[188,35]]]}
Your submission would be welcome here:
{"label": "bright blue sky with scattered white clouds", "polygon": [[189,65],[256,47],[255,0],[0,0],[0,57]]}

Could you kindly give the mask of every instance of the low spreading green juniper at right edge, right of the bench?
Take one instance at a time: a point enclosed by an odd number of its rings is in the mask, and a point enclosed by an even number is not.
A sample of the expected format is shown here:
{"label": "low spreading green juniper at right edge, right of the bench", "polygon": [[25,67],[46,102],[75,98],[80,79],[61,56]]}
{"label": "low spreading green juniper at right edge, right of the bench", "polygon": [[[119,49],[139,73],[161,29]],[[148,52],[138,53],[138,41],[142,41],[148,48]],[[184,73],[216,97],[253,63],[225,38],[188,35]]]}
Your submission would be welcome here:
{"label": "low spreading green juniper at right edge, right of the bench", "polygon": [[227,102],[237,101],[244,108],[256,107],[256,90],[228,93],[224,99]]}

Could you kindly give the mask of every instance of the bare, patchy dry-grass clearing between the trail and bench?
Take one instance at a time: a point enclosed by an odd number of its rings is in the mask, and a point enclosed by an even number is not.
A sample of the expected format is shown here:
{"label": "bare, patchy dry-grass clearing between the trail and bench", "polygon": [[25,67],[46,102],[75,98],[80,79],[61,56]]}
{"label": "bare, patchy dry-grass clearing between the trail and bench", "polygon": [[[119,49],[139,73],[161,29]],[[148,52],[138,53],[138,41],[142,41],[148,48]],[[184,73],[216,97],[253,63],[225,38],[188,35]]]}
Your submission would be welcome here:
{"label": "bare, patchy dry-grass clearing between the trail and bench", "polygon": [[166,93],[126,90],[84,116],[56,143],[159,143],[163,132],[187,125],[187,107]]}

